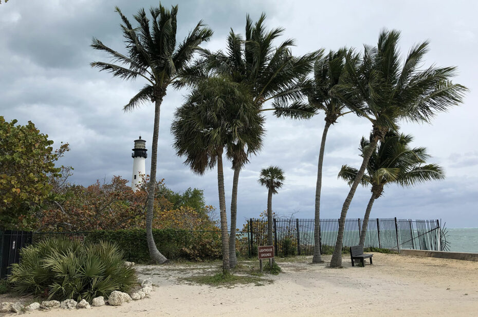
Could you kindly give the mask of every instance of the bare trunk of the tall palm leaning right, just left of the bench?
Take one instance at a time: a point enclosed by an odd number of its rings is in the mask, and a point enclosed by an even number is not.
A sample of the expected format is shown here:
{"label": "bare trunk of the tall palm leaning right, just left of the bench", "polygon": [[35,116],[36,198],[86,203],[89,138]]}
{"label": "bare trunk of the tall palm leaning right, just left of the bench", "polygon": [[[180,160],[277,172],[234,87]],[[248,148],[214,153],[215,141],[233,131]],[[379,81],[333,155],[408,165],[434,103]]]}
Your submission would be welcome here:
{"label": "bare trunk of the tall palm leaning right, just left of the bench", "polygon": [[335,243],[334,253],[332,254],[332,260],[330,260],[330,267],[341,267],[342,266],[342,242],[343,242],[343,231],[345,229],[345,217],[347,216],[348,207],[350,203],[352,203],[352,199],[354,198],[355,190],[362,179],[363,173],[365,172],[365,168],[369,163],[370,156],[372,156],[375,147],[377,146],[377,137],[373,137],[372,142],[370,142],[369,149],[363,155],[362,166],[355,177],[355,181],[352,184],[350,191],[348,192],[347,198],[342,206],[342,212],[340,213],[340,220],[339,220],[339,231],[337,232],[337,241]]}

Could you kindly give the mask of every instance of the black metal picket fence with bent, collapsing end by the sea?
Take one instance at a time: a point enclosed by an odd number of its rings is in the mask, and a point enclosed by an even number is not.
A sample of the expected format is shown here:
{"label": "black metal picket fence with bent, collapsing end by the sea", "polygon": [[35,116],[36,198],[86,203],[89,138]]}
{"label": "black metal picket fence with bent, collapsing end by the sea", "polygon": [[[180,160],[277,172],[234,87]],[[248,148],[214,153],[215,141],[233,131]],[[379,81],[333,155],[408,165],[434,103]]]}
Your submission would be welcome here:
{"label": "black metal picket fence with bent, collapsing end by the sea", "polygon": [[[346,219],[343,247],[359,244],[363,220]],[[256,246],[267,245],[267,220],[248,221],[249,249],[254,253]],[[320,250],[331,253],[337,240],[338,219],[320,220]],[[274,219],[273,237],[275,253],[278,255],[314,252],[314,219]],[[369,219],[365,235],[365,248],[443,250],[442,235],[438,220]]]}

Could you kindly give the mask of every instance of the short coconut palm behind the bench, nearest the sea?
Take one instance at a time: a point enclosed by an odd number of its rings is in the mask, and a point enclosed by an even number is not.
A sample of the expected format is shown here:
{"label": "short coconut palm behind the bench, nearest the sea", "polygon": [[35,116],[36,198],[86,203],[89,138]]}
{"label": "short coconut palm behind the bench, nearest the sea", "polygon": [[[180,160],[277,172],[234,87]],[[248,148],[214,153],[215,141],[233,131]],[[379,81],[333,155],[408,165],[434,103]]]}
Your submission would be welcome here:
{"label": "short coconut palm behind the bench, nearest the sea", "polygon": [[[370,156],[367,164],[367,173],[363,174],[361,184],[371,185],[372,196],[365,210],[363,217],[362,231],[360,232],[361,246],[365,242],[367,225],[369,224],[370,211],[375,200],[383,194],[383,187],[389,184],[398,184],[402,187],[413,186],[418,183],[425,183],[431,180],[443,180],[445,173],[442,167],[436,164],[427,164],[430,157],[426,148],[411,148],[409,144],[413,141],[411,135],[387,133],[384,140],[378,144]],[[360,152],[370,146],[370,141],[362,137]],[[358,170],[348,165],[343,165],[339,177],[351,185]]]}

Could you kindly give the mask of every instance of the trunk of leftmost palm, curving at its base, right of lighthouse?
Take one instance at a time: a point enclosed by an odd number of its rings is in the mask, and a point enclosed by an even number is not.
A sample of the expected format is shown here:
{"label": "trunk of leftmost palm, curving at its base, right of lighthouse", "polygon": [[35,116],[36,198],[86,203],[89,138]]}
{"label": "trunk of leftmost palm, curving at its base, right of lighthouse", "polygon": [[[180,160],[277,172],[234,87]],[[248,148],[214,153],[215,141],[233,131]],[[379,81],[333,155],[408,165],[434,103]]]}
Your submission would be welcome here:
{"label": "trunk of leftmost palm, curving at its base, right of lighthouse", "polygon": [[154,189],[156,186],[156,164],[158,160],[158,135],[159,135],[159,110],[164,94],[156,97],[154,107],[154,129],[153,129],[153,143],[151,146],[151,171],[150,183],[148,184],[148,205],[146,206],[146,242],[150,251],[151,259],[162,264],[167,262],[166,256],[162,255],[153,238],[153,209],[154,209]]}

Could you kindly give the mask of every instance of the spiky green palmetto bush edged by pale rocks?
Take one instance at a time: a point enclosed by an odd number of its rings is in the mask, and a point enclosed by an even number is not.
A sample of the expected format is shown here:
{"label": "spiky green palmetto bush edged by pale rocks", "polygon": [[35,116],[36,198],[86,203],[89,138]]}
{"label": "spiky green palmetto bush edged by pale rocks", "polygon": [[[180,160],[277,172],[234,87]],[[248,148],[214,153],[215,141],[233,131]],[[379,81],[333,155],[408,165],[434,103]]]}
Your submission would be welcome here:
{"label": "spiky green palmetto bush edged by pale rocks", "polygon": [[13,291],[48,299],[90,301],[112,291],[128,291],[137,282],[126,267],[123,252],[109,242],[85,243],[47,239],[20,250],[21,263],[12,265],[8,282]]}

